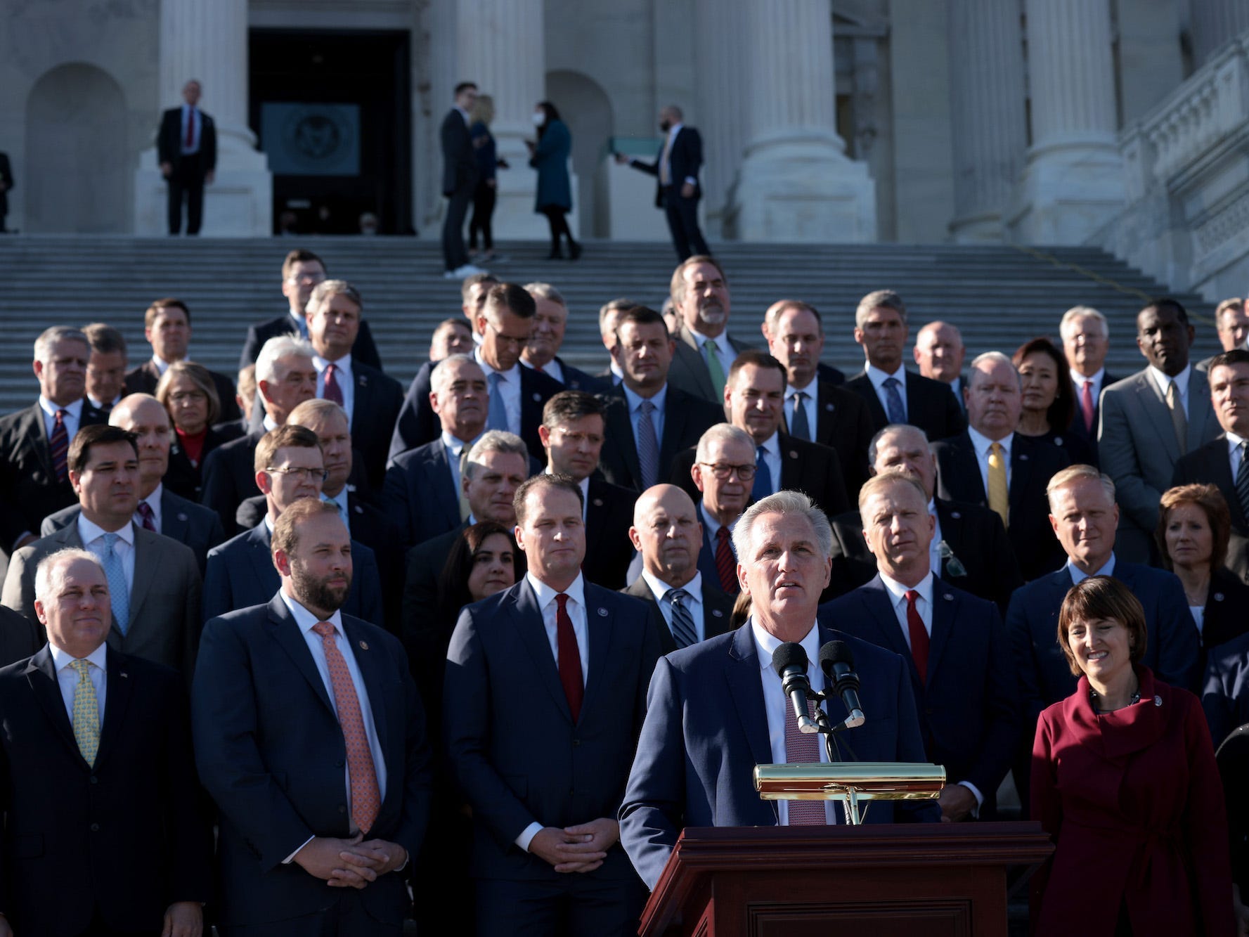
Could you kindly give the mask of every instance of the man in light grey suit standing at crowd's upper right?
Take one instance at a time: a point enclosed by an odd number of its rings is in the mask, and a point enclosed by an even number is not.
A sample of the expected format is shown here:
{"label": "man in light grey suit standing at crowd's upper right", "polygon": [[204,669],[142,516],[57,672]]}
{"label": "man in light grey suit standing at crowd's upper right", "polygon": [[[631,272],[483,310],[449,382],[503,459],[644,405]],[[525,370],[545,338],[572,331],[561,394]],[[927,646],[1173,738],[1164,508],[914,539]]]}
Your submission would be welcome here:
{"label": "man in light grey suit standing at crowd's upper right", "polygon": [[1189,365],[1193,326],[1175,300],[1137,314],[1137,347],[1149,366],[1102,392],[1098,449],[1119,503],[1117,553],[1129,562],[1157,557],[1158,500],[1180,456],[1222,432],[1205,372]]}

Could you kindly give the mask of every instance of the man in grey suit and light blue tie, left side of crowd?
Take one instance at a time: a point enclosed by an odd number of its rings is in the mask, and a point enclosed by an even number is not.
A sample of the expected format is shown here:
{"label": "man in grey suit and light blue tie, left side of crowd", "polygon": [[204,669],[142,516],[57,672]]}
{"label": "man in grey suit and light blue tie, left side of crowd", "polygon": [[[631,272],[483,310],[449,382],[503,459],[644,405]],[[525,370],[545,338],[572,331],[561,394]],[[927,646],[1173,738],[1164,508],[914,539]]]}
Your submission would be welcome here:
{"label": "man in grey suit and light blue tie, left side of crowd", "polygon": [[77,520],[14,553],[2,603],[36,621],[39,561],[65,547],[85,547],[100,558],[109,577],[109,646],[190,677],[200,642],[200,571],[189,547],[134,522],[139,503],[134,434],[116,426],[84,426],[70,444],[69,476],[82,508]]}

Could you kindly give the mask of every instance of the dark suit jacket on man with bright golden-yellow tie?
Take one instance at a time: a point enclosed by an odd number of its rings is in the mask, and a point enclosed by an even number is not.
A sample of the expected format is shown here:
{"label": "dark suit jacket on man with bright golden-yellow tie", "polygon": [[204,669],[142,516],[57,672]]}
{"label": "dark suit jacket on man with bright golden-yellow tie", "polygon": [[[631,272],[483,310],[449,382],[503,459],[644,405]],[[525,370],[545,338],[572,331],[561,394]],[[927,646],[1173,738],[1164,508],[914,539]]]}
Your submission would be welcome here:
{"label": "dark suit jacket on man with bright golden-yellow tie", "polygon": [[[937,454],[937,497],[989,506],[980,464],[964,431],[933,445]],[[1049,523],[1045,486],[1068,465],[1067,454],[1048,441],[1034,441],[1018,432],[1010,444],[1010,523],[1007,535],[1014,546],[1019,571],[1025,580],[1053,572],[1065,562],[1063,547]]]}

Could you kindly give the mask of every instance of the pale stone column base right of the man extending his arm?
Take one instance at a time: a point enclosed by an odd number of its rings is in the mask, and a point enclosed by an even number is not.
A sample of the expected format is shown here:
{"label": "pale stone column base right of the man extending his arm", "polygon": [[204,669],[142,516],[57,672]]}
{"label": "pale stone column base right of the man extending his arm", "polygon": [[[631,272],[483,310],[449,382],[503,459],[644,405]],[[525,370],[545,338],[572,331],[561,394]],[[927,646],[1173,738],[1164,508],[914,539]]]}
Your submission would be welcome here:
{"label": "pale stone column base right of the man extending his arm", "polygon": [[876,182],[866,162],[826,139],[747,147],[724,207],[741,241],[868,244],[877,240]]}

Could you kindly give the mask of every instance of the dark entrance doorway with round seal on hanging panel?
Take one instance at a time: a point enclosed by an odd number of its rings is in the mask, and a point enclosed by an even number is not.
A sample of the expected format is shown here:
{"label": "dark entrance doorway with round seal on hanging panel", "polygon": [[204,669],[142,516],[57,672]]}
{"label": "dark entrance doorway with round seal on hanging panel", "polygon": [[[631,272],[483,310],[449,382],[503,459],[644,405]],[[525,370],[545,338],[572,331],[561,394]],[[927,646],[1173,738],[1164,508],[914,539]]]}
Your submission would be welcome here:
{"label": "dark entrance doorway with round seal on hanging panel", "polygon": [[406,31],[250,32],[249,121],[274,172],[274,232],[412,232]]}

